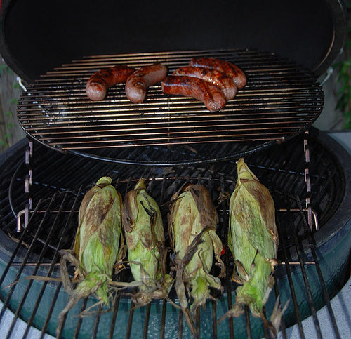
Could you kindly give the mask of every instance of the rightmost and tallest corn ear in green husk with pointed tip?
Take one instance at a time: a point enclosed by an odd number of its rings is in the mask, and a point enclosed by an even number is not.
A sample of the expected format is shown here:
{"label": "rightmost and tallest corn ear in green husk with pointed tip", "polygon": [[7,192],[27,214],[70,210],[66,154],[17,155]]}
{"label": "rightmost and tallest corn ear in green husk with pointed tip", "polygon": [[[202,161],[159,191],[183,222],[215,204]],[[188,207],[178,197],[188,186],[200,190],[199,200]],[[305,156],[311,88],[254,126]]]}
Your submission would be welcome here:
{"label": "rightmost and tallest corn ear in green husk with pointed tip", "polygon": [[275,225],[274,201],[267,188],[245,164],[237,161],[238,180],[230,197],[230,230],[228,245],[234,256],[237,273],[232,279],[242,286],[232,309],[224,317],[238,317],[248,305],[251,314],[263,320],[273,335],[279,331],[284,310],[279,309],[279,298],[270,321],[263,307],[274,286],[274,265],[277,265],[278,234]]}

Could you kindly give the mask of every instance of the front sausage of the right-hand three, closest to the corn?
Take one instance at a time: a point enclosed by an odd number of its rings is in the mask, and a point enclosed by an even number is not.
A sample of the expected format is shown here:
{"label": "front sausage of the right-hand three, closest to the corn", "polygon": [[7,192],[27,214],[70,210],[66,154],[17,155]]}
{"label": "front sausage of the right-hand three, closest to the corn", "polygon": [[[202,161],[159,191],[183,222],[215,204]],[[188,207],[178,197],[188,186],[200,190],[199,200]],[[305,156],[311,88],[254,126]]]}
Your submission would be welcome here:
{"label": "front sausage of the right-hand three, closest to the corn", "polygon": [[166,77],[162,82],[162,91],[166,94],[184,95],[200,100],[210,112],[219,111],[226,103],[223,92],[216,85],[186,75]]}

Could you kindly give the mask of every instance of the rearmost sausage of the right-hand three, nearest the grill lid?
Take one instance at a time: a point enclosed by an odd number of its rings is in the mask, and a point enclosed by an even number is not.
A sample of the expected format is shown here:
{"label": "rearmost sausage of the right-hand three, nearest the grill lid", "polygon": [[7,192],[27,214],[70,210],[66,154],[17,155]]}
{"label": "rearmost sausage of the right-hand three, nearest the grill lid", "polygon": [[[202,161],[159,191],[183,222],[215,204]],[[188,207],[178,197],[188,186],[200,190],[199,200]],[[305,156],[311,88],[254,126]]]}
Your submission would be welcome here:
{"label": "rearmost sausage of the right-hand three, nearest the grill lid", "polygon": [[246,76],[244,72],[232,62],[218,60],[215,58],[193,58],[189,62],[190,66],[205,67],[209,69],[217,69],[228,77],[231,77],[237,88],[243,88],[246,85]]}

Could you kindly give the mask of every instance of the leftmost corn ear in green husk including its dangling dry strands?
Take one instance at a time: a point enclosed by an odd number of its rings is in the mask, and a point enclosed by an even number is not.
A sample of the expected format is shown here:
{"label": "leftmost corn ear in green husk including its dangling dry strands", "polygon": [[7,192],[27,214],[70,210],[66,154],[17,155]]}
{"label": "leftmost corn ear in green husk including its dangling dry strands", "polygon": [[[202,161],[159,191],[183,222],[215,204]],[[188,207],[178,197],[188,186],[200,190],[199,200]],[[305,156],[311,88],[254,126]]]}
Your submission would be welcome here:
{"label": "leftmost corn ear in green husk including its dangling dry strands", "polygon": [[[73,251],[63,251],[61,275],[70,298],[60,313],[57,333],[60,332],[64,315],[80,298],[94,293],[100,303],[109,305],[110,282],[114,264],[123,256],[121,234],[121,194],[110,185],[110,177],[102,177],[89,190],[79,208],[79,226]],[[76,275],[81,281],[72,288],[64,260],[76,265]]]}

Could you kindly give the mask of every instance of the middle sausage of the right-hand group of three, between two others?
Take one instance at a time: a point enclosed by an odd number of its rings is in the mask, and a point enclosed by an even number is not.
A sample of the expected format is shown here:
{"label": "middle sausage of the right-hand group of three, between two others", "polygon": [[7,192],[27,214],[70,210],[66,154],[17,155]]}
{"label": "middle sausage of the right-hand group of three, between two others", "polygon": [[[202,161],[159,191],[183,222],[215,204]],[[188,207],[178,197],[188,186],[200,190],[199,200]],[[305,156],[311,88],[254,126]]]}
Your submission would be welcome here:
{"label": "middle sausage of the right-hand group of three, between two others", "polygon": [[211,82],[218,86],[220,91],[225,95],[225,99],[232,100],[237,94],[237,85],[234,84],[232,78],[227,77],[217,69],[209,69],[204,67],[187,66],[180,67],[173,72],[173,75],[187,75],[204,81]]}

